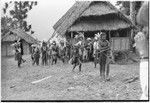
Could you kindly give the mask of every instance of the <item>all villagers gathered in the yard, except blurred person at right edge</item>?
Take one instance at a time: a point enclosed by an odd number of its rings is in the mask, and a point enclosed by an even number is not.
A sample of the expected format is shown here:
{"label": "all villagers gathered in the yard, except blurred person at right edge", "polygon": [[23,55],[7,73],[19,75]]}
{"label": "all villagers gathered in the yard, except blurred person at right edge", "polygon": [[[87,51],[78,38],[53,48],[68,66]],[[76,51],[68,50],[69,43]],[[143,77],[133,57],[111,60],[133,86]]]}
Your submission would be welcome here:
{"label": "all villagers gathered in the yard, except blurred person at right edge", "polygon": [[[57,64],[57,60],[60,59],[63,63],[69,63],[73,65],[72,71],[79,66],[79,72],[81,71],[82,63],[88,61],[94,61],[94,67],[100,65],[100,76],[107,80],[109,76],[109,64],[113,61],[112,52],[110,49],[110,43],[106,40],[106,33],[98,32],[93,39],[85,38],[82,33],[75,35],[75,42],[60,41],[58,45],[56,41],[48,43],[43,41],[41,46],[33,44],[31,59],[32,65],[39,65],[39,59],[41,58],[42,65],[54,65]],[[16,41],[13,44],[15,47],[15,58],[18,61],[18,67],[25,62],[22,58],[20,42]]]}

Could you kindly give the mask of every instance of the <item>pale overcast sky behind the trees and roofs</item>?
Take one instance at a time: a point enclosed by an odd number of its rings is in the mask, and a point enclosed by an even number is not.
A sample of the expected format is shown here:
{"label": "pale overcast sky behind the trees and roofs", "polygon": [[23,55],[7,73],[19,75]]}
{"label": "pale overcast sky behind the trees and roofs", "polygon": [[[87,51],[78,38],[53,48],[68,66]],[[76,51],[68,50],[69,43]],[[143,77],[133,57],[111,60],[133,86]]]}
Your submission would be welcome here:
{"label": "pale overcast sky behind the trees and roofs", "polygon": [[[8,0],[2,0],[2,4]],[[53,34],[53,25],[67,12],[75,3],[75,0],[37,0],[38,5],[34,6],[28,13],[27,21],[32,24],[35,31],[34,37],[39,40],[48,40]],[[111,1],[115,4],[114,1]]]}

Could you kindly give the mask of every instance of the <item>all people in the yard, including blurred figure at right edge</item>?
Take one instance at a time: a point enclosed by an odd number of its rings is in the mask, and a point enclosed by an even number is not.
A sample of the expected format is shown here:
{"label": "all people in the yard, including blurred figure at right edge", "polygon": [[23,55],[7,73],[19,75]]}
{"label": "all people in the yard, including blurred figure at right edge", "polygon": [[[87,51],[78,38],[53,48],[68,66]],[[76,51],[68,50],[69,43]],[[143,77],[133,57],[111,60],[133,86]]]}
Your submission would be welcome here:
{"label": "all people in the yard, including blurred figure at right edge", "polygon": [[[143,26],[144,33],[138,33],[135,36],[135,44],[141,56],[140,63],[140,81],[142,86],[142,97],[141,99],[148,99],[148,3],[144,3],[139,10],[137,16],[137,22]],[[15,47],[15,60],[18,61],[18,67],[25,60],[22,58],[20,41],[15,41],[13,46]],[[112,51],[110,49],[110,43],[106,40],[106,34],[100,32],[95,34],[94,39],[85,38],[83,36],[76,36],[75,43],[71,42],[60,42],[60,46],[53,43],[42,43],[42,46],[32,46],[32,64],[39,65],[39,59],[41,57],[42,65],[56,64],[57,59],[62,60],[63,63],[66,61],[73,65],[72,71],[76,66],[79,66],[81,71],[82,63],[94,58],[94,65],[100,64],[100,76],[108,79],[109,76],[109,64],[113,61]]]}

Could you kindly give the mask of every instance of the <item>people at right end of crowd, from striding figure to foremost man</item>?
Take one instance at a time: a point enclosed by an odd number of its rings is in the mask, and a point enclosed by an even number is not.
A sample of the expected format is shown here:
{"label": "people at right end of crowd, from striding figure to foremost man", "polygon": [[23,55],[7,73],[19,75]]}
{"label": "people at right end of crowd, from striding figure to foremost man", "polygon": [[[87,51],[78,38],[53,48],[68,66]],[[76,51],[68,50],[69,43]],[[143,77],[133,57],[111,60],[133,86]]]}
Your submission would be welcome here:
{"label": "people at right end of crowd, from striding figure to foremost man", "polygon": [[109,64],[113,61],[113,55],[105,32],[95,34],[93,40],[87,38],[87,44],[84,37],[79,36],[78,41],[73,45],[73,57],[70,59],[74,65],[72,70],[74,71],[75,67],[79,65],[79,71],[81,71],[84,59],[92,57],[94,58],[95,67],[97,63],[100,65],[102,79],[109,80]]}

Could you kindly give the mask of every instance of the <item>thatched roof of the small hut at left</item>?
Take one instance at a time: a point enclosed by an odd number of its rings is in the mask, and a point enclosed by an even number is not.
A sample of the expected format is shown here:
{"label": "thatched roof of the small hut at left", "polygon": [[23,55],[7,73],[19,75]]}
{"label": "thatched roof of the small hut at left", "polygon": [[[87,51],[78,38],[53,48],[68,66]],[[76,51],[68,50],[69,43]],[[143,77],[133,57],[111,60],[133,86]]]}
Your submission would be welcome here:
{"label": "thatched roof of the small hut at left", "polygon": [[27,43],[37,43],[36,39],[21,29],[11,29],[10,32],[2,37],[2,42],[15,41],[18,40],[18,38],[24,39]]}

